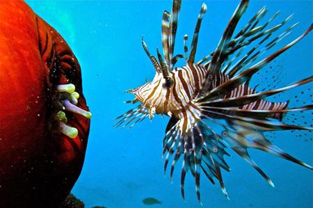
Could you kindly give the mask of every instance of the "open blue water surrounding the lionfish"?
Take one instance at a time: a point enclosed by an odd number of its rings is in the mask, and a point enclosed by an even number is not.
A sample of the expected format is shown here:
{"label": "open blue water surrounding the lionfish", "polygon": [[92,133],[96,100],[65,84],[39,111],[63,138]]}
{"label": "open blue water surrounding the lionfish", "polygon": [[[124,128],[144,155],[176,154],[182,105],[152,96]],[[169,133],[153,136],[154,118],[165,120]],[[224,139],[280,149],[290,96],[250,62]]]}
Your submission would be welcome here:
{"label": "open blue water surrounding the lionfish", "polygon": [[[183,1],[176,53],[183,51],[182,37],[185,33],[188,33],[190,42],[203,1]],[[163,10],[170,10],[172,2],[27,2],[72,47],[81,64],[83,92],[93,113],[86,161],[72,193],[83,200],[86,207],[147,207],[142,202],[147,197],[162,201],[161,205],[151,207],[201,207],[191,175],[186,177],[186,200],[182,200],[179,189],[181,163],[175,169],[173,184],[170,184],[168,174],[163,177],[161,141],[168,118],[156,116],[153,122],[145,120],[131,130],[112,127],[113,118],[134,107],[122,103],[133,98],[123,92],[154,76],[154,68],[141,47],[141,35],[144,34],[153,53],[156,47],[161,48],[161,15]],[[205,3],[208,11],[200,30],[198,60],[214,50],[238,1],[206,0]],[[269,9],[267,17],[281,10],[275,23],[292,13],[291,22],[300,22],[275,49],[294,40],[312,22],[313,1],[252,1],[239,27],[265,5]],[[272,79],[272,75],[279,72],[282,73],[279,78],[281,86],[310,76],[312,48],[310,33],[271,63],[272,69],[268,66],[262,70],[262,79],[254,82],[266,86],[276,79]],[[181,62],[179,64],[182,65]],[[307,90],[307,86],[284,93],[280,99],[291,99],[291,106],[301,106],[302,101],[294,101],[294,96],[300,95],[301,90]],[[312,90],[307,90],[306,94],[312,94]],[[312,123],[312,115],[307,115],[309,118],[299,117],[298,120]],[[312,134],[308,134],[309,141],[305,141],[303,136],[300,138],[289,131],[275,133],[271,141],[312,165]],[[230,200],[224,197],[218,185],[213,186],[202,175],[203,207],[313,207],[311,170],[264,152],[252,151],[252,157],[273,180],[273,189],[232,150],[227,152],[232,154],[226,159],[232,171],[224,171],[223,179]]]}

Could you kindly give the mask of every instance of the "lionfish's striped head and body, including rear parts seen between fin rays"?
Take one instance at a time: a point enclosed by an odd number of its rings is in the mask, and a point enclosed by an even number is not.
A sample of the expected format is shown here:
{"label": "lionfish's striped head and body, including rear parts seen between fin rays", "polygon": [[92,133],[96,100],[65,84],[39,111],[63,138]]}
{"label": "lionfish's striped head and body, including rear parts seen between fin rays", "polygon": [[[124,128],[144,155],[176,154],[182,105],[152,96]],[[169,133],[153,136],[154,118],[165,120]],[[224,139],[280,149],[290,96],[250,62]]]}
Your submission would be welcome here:
{"label": "lionfish's striped head and body, including rear parts seen between fin rays", "polygon": [[[155,107],[155,113],[157,114],[170,114],[170,116],[175,116],[175,118],[182,118],[184,113],[189,110],[188,108],[192,107],[198,109],[196,104],[192,101],[202,88],[206,73],[207,68],[203,65],[193,64],[192,67],[188,65],[177,67],[171,72],[171,76],[174,80],[174,85],[171,88],[164,87],[165,81],[162,74],[156,73],[151,82],[136,88],[133,93],[147,109]],[[216,88],[229,79],[227,74],[218,73],[212,81],[211,88]],[[248,88],[245,84],[241,84],[239,87],[232,90],[229,95],[224,96],[223,99],[241,97],[253,93],[255,93],[254,90]],[[239,109],[275,111],[285,109],[287,104],[288,102],[268,102],[264,99],[260,99],[258,102],[243,105],[239,107]],[[198,113],[196,117],[200,117],[200,115],[201,113]],[[281,117],[279,113],[275,114],[275,116],[276,118]]]}

